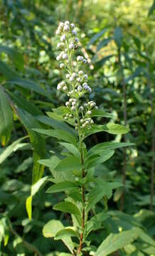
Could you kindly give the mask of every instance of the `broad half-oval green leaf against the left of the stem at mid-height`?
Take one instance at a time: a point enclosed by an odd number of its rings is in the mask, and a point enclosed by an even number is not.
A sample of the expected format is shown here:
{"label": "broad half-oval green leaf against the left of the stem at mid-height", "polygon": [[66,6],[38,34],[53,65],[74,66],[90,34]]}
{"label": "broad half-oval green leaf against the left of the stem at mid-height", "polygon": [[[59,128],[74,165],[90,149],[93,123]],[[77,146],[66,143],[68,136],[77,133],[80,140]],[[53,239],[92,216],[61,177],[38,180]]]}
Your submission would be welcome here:
{"label": "broad half-oval green leaf against the left of the stem at mid-height", "polygon": [[55,171],[80,171],[82,168],[80,159],[75,156],[67,156],[56,166]]}

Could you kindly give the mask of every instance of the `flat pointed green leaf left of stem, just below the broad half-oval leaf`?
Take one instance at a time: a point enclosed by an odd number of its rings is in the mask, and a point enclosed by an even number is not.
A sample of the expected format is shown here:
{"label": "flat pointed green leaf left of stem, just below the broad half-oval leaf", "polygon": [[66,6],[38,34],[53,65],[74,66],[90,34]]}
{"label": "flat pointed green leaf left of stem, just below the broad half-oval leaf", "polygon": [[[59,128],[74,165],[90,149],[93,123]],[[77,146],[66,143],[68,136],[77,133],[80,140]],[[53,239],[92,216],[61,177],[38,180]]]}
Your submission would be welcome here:
{"label": "flat pointed green leaf left of stem, just below the broad half-oval leaf", "polygon": [[73,191],[73,189],[77,188],[75,183],[70,181],[64,181],[53,186],[50,186],[46,193],[58,193],[62,191]]}

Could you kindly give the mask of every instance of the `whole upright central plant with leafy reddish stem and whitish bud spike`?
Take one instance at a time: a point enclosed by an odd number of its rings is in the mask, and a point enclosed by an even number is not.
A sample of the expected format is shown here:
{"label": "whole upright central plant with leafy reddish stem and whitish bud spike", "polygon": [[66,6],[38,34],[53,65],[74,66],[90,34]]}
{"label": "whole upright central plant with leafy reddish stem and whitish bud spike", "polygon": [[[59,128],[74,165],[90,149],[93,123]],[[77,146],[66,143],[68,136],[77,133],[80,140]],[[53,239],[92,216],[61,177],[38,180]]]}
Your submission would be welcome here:
{"label": "whole upright central plant with leafy reddish stem and whitish bud spike", "polygon": [[[97,248],[90,240],[93,232],[100,232],[104,221],[108,223],[107,200],[112,197],[112,190],[120,183],[107,182],[102,178],[102,164],[113,154],[114,149],[130,146],[130,143],[103,142],[87,149],[85,139],[97,132],[109,134],[125,134],[127,127],[108,122],[95,124],[95,117],[111,119],[112,114],[99,110],[94,101],[82,102],[83,96],[92,92],[85,73],[87,60],[79,54],[80,43],[73,23],[60,23],[56,31],[58,37],[57,50],[60,70],[64,79],[57,85],[57,90],[66,93],[68,97],[64,107],[53,109],[48,116],[55,119],[53,129],[36,129],[41,134],[58,139],[62,147],[62,156],[53,155],[50,159],[42,159],[40,164],[48,166],[52,177],[48,178],[53,185],[47,193],[65,193],[65,199],[57,203],[53,210],[70,215],[73,225],[65,226],[60,220],[50,220],[43,227],[46,238],[62,240],[69,250],[69,255],[104,256],[122,248],[134,240],[132,232],[130,240],[123,239],[124,232],[107,235]],[[100,167],[100,175],[95,169]],[[102,211],[97,208],[98,203]],[[69,222],[70,223],[70,222]],[[110,225],[110,224],[109,224]],[[120,238],[121,236],[121,238]],[[114,241],[121,239],[117,247]],[[106,251],[108,244],[108,250]]]}

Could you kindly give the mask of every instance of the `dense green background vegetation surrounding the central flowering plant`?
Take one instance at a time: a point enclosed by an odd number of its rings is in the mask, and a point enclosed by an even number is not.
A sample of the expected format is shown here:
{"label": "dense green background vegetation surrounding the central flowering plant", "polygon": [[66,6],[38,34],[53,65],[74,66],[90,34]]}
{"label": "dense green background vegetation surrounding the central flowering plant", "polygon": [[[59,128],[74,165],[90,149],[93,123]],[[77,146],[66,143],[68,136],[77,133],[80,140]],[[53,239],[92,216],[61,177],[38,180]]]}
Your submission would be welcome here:
{"label": "dense green background vegetation surrounding the central flowering plant", "polygon": [[[72,220],[70,211],[53,210],[65,193],[51,186],[55,178],[64,178],[55,174],[55,162],[68,157],[59,131],[76,135],[62,112],[46,114],[68,100],[56,89],[63,72],[56,61],[55,31],[66,20],[79,29],[80,50],[88,63],[92,92],[83,100],[110,113],[108,122],[126,126],[125,132],[113,128],[85,139],[87,149],[103,142],[115,142],[118,146],[108,146],[119,149],[90,173],[90,180],[104,180],[106,192],[89,209],[90,218],[99,217],[81,255],[155,255],[155,2],[0,0],[0,6],[0,255],[70,255],[61,240],[52,238],[59,221],[68,227]],[[94,120],[107,124],[106,114]],[[50,137],[45,129],[58,134]],[[122,142],[131,146],[122,147]],[[91,188],[92,183],[87,191]]]}

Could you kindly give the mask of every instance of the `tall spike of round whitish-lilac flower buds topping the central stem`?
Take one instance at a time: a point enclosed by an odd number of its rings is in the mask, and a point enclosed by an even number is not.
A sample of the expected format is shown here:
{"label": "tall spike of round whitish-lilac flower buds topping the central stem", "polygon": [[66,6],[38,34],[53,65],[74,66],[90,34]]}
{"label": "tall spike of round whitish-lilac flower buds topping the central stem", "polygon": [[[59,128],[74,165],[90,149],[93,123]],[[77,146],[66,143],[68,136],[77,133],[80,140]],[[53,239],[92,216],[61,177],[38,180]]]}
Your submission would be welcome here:
{"label": "tall spike of round whitish-lilac flower buds topping the central stem", "polygon": [[57,90],[66,92],[69,100],[65,106],[70,110],[70,114],[65,114],[65,120],[74,119],[75,129],[88,129],[94,123],[90,115],[94,108],[97,109],[96,103],[87,102],[80,106],[80,97],[92,89],[87,84],[88,76],[80,68],[87,60],[82,55],[75,55],[75,50],[79,47],[79,39],[75,25],[69,21],[61,22],[56,34],[60,36],[60,42],[57,44],[59,55],[56,60],[60,61],[59,67],[66,71],[65,80],[58,83]]}

